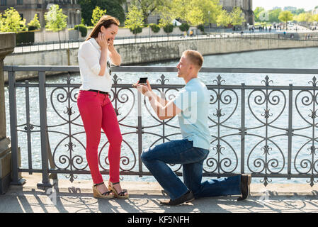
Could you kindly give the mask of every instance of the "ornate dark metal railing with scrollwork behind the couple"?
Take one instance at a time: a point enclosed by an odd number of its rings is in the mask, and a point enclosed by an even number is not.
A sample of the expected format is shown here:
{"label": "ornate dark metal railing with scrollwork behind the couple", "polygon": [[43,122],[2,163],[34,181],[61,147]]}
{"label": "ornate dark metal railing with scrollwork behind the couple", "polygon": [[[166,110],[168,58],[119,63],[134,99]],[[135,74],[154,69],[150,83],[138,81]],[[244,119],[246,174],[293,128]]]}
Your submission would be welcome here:
{"label": "ornate dark metal railing with scrollwork behind the couple", "polygon": [[[23,183],[19,172],[42,173],[40,187],[50,186],[49,174],[52,177],[66,174],[71,181],[76,175],[89,174],[85,157],[86,138],[76,106],[80,84],[74,83],[71,76],[72,72],[79,72],[79,67],[21,66],[4,67],[4,70],[8,72],[13,184]],[[17,71],[38,71],[38,81],[16,82]],[[67,76],[61,83],[47,83],[45,72],[66,72]],[[113,72],[110,99],[123,134],[120,174],[150,175],[140,160],[142,150],[181,138],[178,122],[176,118],[160,121],[147,99],[138,94],[131,84],[120,84],[117,74],[168,73],[176,72],[176,68],[113,67]],[[269,178],[278,177],[307,178],[310,185],[317,182],[318,87],[314,75],[318,74],[318,70],[205,67],[200,72],[218,74],[207,84],[210,90],[208,126],[211,147],[204,163],[204,176],[228,177],[251,173],[253,177],[261,178],[265,185],[271,182]],[[227,85],[222,73],[264,76],[259,85]],[[284,74],[307,74],[312,79],[308,79],[307,86],[274,86],[268,74],[281,74],[282,77]],[[172,99],[184,85],[168,82],[169,79],[161,74],[152,88],[165,99]],[[19,95],[25,96],[24,103],[18,106],[17,89]],[[30,89],[34,90],[31,92],[32,99]],[[18,133],[25,135],[23,144],[18,143]],[[32,136],[36,133],[40,140],[35,138],[33,142]],[[40,143],[38,149],[33,148],[36,142]],[[28,167],[19,165],[18,147],[21,146],[24,146],[24,149],[21,148],[21,160]],[[108,174],[107,147],[108,141],[103,137],[98,153],[103,174]],[[35,167],[37,159],[34,156],[38,157],[38,167]],[[181,165],[171,167],[181,175]]]}

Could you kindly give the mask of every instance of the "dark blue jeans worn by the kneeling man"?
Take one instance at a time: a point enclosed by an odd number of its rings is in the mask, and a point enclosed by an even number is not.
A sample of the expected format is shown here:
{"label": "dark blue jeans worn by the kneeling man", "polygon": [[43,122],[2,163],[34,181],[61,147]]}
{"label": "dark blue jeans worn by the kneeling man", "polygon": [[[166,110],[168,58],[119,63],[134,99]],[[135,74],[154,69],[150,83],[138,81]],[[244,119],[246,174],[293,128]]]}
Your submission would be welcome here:
{"label": "dark blue jeans worn by the kneeling man", "polygon": [[[195,198],[241,194],[241,175],[201,182],[203,161],[209,150],[194,148],[193,141],[171,140],[144,150],[142,162],[157,179],[171,199],[177,199],[188,190]],[[167,164],[183,165],[183,182]]]}

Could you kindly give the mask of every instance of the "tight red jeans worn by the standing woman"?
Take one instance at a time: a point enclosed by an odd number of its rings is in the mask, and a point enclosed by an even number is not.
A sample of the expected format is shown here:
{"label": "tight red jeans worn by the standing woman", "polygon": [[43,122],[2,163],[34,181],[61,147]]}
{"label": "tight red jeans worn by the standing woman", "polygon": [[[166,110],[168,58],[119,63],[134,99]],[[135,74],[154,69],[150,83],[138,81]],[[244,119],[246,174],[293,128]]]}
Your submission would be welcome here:
{"label": "tight red jeans worn by the standing woman", "polygon": [[109,142],[109,180],[113,183],[119,182],[120,148],[123,137],[108,95],[81,90],[77,96],[77,106],[86,132],[86,159],[91,170],[93,183],[103,182],[98,165],[101,128],[103,128]]}

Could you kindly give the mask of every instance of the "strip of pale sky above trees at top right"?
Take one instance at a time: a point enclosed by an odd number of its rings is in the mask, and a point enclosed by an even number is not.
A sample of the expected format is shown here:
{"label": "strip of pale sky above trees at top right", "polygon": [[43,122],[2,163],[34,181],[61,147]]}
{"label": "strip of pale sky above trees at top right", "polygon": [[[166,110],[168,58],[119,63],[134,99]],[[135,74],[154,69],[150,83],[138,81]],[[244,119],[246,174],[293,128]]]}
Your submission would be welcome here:
{"label": "strip of pale sky above trees at top right", "polygon": [[303,8],[305,11],[308,11],[310,9],[314,9],[314,6],[318,6],[317,0],[253,0],[253,9],[255,9],[257,6],[261,6],[268,9],[273,9],[273,7],[278,6],[282,9],[285,6],[294,6],[298,9]]}

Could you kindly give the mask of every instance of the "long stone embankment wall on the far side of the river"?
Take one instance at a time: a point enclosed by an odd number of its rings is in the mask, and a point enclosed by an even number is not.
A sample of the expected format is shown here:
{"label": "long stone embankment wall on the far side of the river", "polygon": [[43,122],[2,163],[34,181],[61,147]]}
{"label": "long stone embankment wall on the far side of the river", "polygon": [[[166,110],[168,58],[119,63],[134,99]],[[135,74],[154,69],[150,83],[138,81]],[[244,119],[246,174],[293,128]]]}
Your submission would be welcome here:
{"label": "long stone embankment wall on the far side of the river", "polygon": [[[289,40],[278,38],[204,38],[170,40],[164,42],[115,45],[122,57],[122,65],[137,65],[163,60],[177,60],[184,50],[198,50],[202,55],[217,55],[256,50],[318,47],[318,40]],[[24,52],[8,55],[4,65],[78,65],[78,48]],[[56,74],[56,72],[55,72]],[[16,72],[16,79],[37,77],[38,72]],[[47,73],[47,75],[50,75]],[[8,81],[7,73],[4,74]]]}

